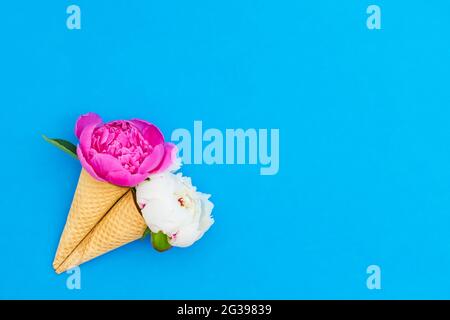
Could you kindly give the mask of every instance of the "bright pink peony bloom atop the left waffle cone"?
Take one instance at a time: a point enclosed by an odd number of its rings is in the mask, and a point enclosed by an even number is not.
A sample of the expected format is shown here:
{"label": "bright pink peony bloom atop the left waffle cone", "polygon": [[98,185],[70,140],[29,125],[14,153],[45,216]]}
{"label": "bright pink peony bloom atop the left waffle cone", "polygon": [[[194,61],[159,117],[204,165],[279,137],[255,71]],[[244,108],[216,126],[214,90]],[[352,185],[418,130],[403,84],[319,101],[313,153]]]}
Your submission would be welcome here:
{"label": "bright pink peony bloom atop the left waffle cone", "polygon": [[167,170],[176,160],[176,147],[164,142],[161,131],[144,120],[103,123],[95,113],[75,125],[78,158],[94,178],[134,187],[150,174]]}

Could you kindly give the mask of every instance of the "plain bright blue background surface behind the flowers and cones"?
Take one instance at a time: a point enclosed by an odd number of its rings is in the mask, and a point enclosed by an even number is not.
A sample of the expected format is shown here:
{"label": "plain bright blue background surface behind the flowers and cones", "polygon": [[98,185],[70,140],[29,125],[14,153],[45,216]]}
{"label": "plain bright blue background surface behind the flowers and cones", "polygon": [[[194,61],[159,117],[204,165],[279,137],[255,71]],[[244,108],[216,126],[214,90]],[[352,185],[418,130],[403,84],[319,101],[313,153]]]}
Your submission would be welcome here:
{"label": "plain bright blue background surface behind the flowers and cones", "polygon": [[[77,4],[82,29],[66,28]],[[382,30],[366,8],[382,9]],[[450,298],[448,1],[9,1],[0,7],[0,298]],[[279,128],[280,172],[185,166],[216,224],[51,263],[80,165],[76,118],[170,136]],[[382,269],[382,290],[366,268]]]}

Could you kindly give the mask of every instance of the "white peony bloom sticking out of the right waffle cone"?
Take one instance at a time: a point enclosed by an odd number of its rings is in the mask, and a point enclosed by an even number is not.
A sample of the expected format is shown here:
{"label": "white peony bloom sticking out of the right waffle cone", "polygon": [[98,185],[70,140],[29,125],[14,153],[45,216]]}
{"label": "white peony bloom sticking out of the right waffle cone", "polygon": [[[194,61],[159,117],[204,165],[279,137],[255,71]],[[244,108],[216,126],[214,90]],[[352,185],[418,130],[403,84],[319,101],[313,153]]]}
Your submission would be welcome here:
{"label": "white peony bloom sticking out of the right waffle cone", "polygon": [[175,247],[188,247],[214,223],[210,195],[197,192],[181,173],[156,174],[136,187],[137,203],[153,233],[162,231]]}

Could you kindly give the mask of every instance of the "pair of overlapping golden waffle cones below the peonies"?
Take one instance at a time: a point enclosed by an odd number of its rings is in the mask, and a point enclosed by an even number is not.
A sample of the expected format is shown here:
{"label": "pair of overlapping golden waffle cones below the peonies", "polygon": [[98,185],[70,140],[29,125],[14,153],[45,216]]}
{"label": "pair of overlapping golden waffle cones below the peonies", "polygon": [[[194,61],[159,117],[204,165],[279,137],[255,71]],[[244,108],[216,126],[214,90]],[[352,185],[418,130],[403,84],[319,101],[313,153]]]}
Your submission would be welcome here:
{"label": "pair of overlapping golden waffle cones below the peonies", "polygon": [[147,225],[130,188],[82,169],[53,268],[62,273],[142,237]]}

